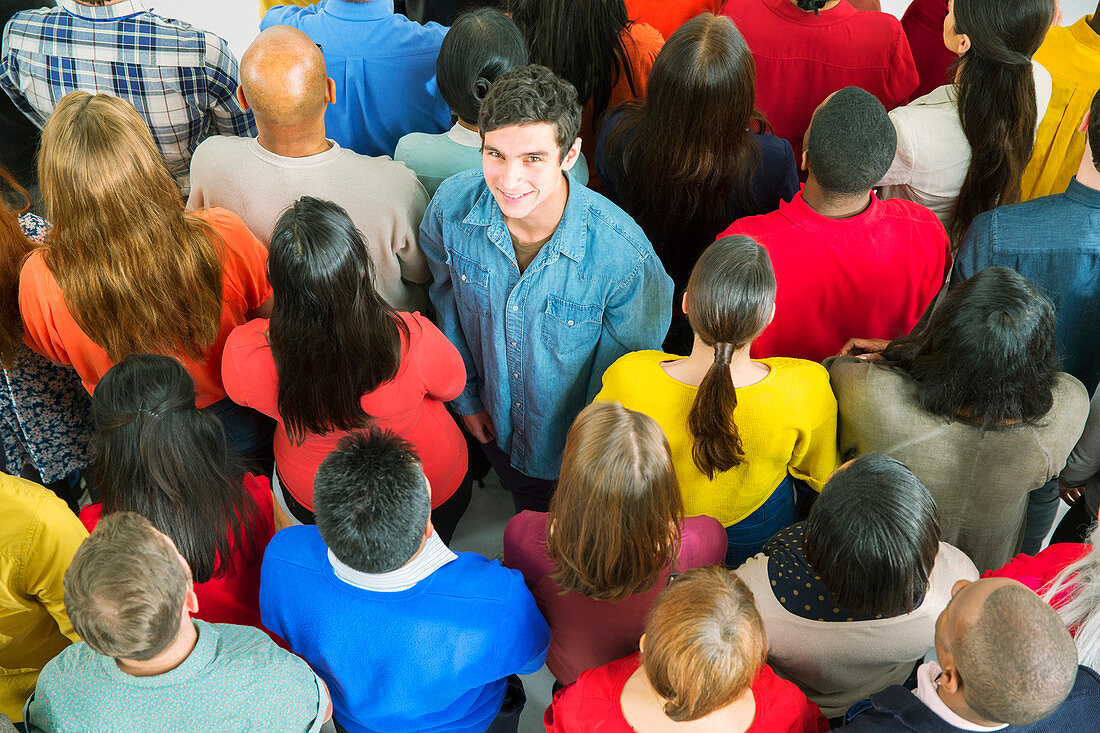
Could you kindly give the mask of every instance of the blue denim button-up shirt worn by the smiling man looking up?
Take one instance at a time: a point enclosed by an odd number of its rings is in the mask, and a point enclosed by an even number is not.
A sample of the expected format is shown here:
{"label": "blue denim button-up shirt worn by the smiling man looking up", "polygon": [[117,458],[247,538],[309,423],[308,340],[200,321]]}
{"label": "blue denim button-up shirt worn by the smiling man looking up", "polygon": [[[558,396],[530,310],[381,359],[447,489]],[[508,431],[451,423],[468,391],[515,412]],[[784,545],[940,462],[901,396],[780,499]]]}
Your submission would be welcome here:
{"label": "blue denim button-up shirt worn by the smiling man looking up", "polygon": [[553,237],[520,274],[504,215],[481,171],[443,182],[420,225],[439,327],[462,354],[451,406],[485,409],[521,473],[558,478],[565,433],[612,362],[657,349],[672,280],[622,209],[570,179]]}

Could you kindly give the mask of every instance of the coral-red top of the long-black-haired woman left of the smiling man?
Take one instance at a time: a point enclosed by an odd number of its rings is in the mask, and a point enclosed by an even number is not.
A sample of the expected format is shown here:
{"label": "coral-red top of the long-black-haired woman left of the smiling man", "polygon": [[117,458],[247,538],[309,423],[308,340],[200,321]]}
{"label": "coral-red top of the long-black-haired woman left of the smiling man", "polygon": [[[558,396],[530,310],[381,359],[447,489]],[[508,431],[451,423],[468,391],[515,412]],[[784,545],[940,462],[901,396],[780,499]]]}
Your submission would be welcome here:
{"label": "coral-red top of the long-black-haired woman left of the smiling man", "polygon": [[[360,404],[374,425],[393,430],[416,448],[436,507],[450,499],[466,473],[466,442],[443,406],[465,387],[466,369],[458,349],[431,321],[418,313],[400,317],[409,327],[409,341],[402,344],[397,376],[364,394]],[[229,336],[221,375],[233,402],[278,422],[275,464],[279,481],[299,504],[312,510],[317,468],[348,433],[309,435],[300,446],[290,441],[278,414],[278,374],[267,343],[266,318],[252,320]]]}

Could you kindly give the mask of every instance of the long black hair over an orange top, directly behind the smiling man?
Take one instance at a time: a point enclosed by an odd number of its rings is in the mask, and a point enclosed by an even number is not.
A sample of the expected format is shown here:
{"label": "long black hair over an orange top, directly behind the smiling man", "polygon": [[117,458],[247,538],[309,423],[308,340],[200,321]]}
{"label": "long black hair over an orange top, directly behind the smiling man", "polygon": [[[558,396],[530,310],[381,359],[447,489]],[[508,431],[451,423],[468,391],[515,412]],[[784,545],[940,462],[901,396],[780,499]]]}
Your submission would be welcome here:
{"label": "long black hair over an orange top, directly behind the smiling man", "polygon": [[582,107],[592,101],[596,129],[620,78],[637,96],[623,0],[510,0],[509,7],[531,63],[576,87]]}

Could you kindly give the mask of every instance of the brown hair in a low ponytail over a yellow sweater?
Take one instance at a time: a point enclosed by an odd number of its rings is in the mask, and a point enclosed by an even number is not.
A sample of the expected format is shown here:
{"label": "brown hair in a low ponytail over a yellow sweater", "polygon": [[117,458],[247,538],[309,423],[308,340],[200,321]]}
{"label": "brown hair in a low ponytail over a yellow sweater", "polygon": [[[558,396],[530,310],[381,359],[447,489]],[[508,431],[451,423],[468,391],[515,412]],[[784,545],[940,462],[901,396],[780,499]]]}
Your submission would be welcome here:
{"label": "brown hair in a low ponytail over a yellow sweater", "polygon": [[714,363],[688,413],[695,466],[713,479],[745,462],[734,422],[737,391],[729,373],[734,352],[768,326],[776,302],[776,273],[768,251],[749,237],[723,237],[703,251],[688,281],[688,320],[714,347]]}

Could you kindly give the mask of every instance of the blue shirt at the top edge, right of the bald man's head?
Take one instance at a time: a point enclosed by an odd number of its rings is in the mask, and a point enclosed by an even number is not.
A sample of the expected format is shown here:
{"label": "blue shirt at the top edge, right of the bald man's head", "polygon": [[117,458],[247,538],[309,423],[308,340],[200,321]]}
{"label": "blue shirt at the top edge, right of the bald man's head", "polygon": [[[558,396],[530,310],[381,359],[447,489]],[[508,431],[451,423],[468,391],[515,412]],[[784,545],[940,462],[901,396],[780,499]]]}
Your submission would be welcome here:
{"label": "blue shirt at the top edge, right of the bald man's head", "polygon": [[393,155],[409,132],[443,132],[451,110],[436,89],[436,57],[447,29],[394,13],[394,0],[322,0],[278,6],[260,29],[292,25],[321,47],[337,101],[324,132],[363,155]]}

